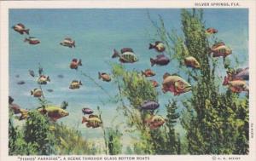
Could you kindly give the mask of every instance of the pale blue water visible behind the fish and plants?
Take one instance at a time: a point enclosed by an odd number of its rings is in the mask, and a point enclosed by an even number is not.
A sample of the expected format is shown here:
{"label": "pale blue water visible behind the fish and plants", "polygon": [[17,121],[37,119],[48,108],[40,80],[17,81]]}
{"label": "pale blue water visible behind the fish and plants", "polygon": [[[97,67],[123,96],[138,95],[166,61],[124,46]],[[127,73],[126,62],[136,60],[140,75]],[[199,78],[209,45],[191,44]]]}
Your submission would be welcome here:
{"label": "pale blue water visible behind the fish and plants", "polygon": [[[102,118],[105,126],[123,123],[125,119],[121,112],[116,111],[117,105],[108,101],[109,97],[102,89],[98,88],[90,79],[81,75],[81,71],[94,78],[108,93],[114,97],[118,93],[113,82],[106,83],[98,79],[97,72],[111,72],[109,62],[118,62],[111,59],[113,49],[131,47],[134,49],[139,61],[126,64],[128,70],[144,70],[151,68],[156,72],[154,79],[162,82],[165,72],[177,72],[187,78],[177,68],[177,62],[172,61],[168,66],[150,66],[149,58],[154,58],[157,53],[148,50],[148,43],[153,43],[155,28],[148,19],[158,20],[159,15],[165,21],[166,28],[171,31],[176,29],[181,32],[180,9],[10,9],[9,10],[9,95],[15,98],[15,103],[22,108],[35,109],[39,106],[38,100],[30,95],[30,90],[38,88],[37,78],[28,75],[28,70],[37,72],[38,63],[44,67],[45,74],[51,81],[43,85],[44,96],[51,101],[50,104],[60,106],[62,101],[67,101],[67,111],[70,115],[61,118],[68,126],[78,128],[85,138],[101,139],[102,129],[87,129],[81,124],[81,109],[85,106],[96,111],[96,106],[101,106]],[[235,57],[240,62],[240,67],[247,66],[248,61],[248,20],[247,9],[206,9],[204,20],[207,27],[218,29],[216,37],[223,40],[233,50],[229,59],[234,64]],[[23,43],[26,35],[20,35],[10,27],[23,23],[30,28],[30,36],[38,37],[38,45]],[[76,41],[76,48],[69,49],[59,43],[65,37],[72,37]],[[82,60],[83,66],[79,71],[71,70],[69,63],[73,58]],[[222,59],[219,59],[220,64]],[[223,66],[218,67],[219,79],[224,77]],[[20,78],[15,78],[19,74]],[[58,78],[62,74],[64,78]],[[81,89],[68,89],[73,79],[81,80]],[[24,85],[17,82],[24,80]],[[49,93],[46,89],[54,89]],[[160,87],[159,113],[166,116],[165,104],[168,100],[176,98],[178,101],[189,98],[189,94],[174,97],[171,93],[162,94]],[[102,104],[102,101],[105,102]],[[182,109],[182,107],[181,107]],[[177,130],[183,131],[180,125]],[[127,140],[128,141],[128,140]],[[128,143],[127,143],[128,144]]]}

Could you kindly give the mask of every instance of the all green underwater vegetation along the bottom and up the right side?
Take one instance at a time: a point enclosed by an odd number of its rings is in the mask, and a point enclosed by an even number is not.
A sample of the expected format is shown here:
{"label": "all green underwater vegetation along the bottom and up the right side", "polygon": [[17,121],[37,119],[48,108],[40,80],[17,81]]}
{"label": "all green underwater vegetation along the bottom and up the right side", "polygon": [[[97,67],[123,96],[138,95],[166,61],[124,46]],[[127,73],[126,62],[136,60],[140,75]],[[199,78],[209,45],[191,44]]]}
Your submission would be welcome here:
{"label": "all green underwater vegetation along the bottom and up the right side", "polygon": [[[153,22],[158,37],[166,45],[166,53],[177,67],[188,75],[192,92],[182,101],[172,97],[165,102],[164,124],[157,128],[148,125],[148,119],[158,116],[158,110],[142,110],[145,101],[159,101],[159,91],[136,70],[129,71],[121,63],[111,64],[113,83],[118,88],[115,97],[118,112],[124,115],[125,125],[101,125],[105,145],[97,147],[93,141],[82,137],[77,129],[53,122],[38,111],[29,112],[24,126],[15,126],[9,116],[9,155],[49,154],[247,154],[248,153],[248,94],[241,95],[223,89],[216,74],[222,67],[229,70],[236,65],[229,57],[219,61],[208,55],[216,37],[209,38],[203,20],[203,10],[182,9],[183,34],[168,32],[165,22]],[[183,66],[183,59],[193,56],[200,62],[199,69]],[[84,77],[90,78],[81,72]],[[102,86],[98,85],[102,90]],[[104,90],[107,95],[108,92]],[[41,106],[47,106],[45,99]],[[179,109],[179,111],[178,111]],[[99,118],[102,112],[98,107]],[[182,111],[182,112],[180,112]],[[103,113],[104,114],[104,113]],[[181,131],[177,130],[181,124]],[[125,130],[120,130],[120,129]],[[124,152],[124,135],[134,138]]]}

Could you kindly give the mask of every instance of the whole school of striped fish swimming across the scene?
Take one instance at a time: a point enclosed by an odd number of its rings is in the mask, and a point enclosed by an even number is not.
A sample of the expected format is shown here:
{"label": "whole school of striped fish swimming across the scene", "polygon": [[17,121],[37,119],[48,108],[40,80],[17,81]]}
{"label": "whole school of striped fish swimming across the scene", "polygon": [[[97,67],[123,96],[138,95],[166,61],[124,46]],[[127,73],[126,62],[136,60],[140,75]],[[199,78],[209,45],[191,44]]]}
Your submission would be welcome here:
{"label": "whole school of striped fish swimming across the scene", "polygon": [[[27,29],[26,26],[24,26],[21,23],[12,26],[12,28],[15,30],[15,32],[19,32],[21,35],[23,35],[24,33],[29,35],[30,29]],[[218,30],[212,27],[209,27],[206,30],[207,36],[211,36],[212,34],[216,33],[218,33]],[[41,43],[40,40],[36,37],[26,37],[24,39],[24,42],[29,43],[31,45],[37,45]],[[68,47],[71,49],[76,47],[75,40],[73,40],[71,37],[65,37],[60,44],[64,47]],[[165,43],[161,41],[149,43],[148,49],[154,49],[154,51],[156,51],[158,54],[155,56],[155,58],[149,59],[149,62],[151,63],[152,67],[155,65],[166,66],[171,62],[170,58],[165,53]],[[218,42],[212,45],[212,48],[209,49],[208,54],[212,54],[213,58],[225,58],[226,56],[232,54],[232,50],[224,42]],[[120,63],[137,63],[139,61],[134,50],[127,47],[122,48],[119,51],[117,49],[113,49],[112,58],[119,58]],[[201,69],[201,63],[198,57],[195,58],[191,55],[186,55],[181,63],[184,66],[192,68],[193,70]],[[82,66],[82,60],[78,58],[73,58],[73,60],[71,60],[71,62],[69,63],[70,69],[78,70],[79,66]],[[32,78],[37,78],[36,81],[39,85],[38,88],[31,90],[31,95],[36,98],[44,97],[44,92],[41,89],[40,85],[47,85],[47,83],[50,82],[49,76],[44,74],[44,69],[42,67],[39,68],[38,75],[36,75],[36,73],[31,69],[29,69],[28,72]],[[152,78],[156,74],[157,73],[155,73],[150,68],[144,69],[141,72],[141,75],[145,78]],[[15,77],[20,78],[20,75],[16,75]],[[57,77],[64,78],[62,74],[59,74]],[[98,72],[98,78],[104,82],[111,82],[112,80],[111,75],[107,72]],[[242,91],[248,92],[249,87],[246,82],[248,80],[249,68],[239,68],[237,70],[227,71],[227,76],[224,77],[223,85],[228,86],[230,91],[234,93],[241,93]],[[152,84],[154,88],[159,87],[159,83],[157,83],[154,79],[149,79],[148,81]],[[22,80],[17,82],[17,84],[19,85],[22,85],[24,83],[25,82]],[[81,80],[73,79],[69,85],[69,89],[80,89],[82,85],[83,83],[81,82]],[[164,94],[166,94],[166,92],[170,92],[173,95],[182,95],[193,90],[193,87],[190,83],[188,83],[184,78],[175,73],[170,74],[166,72],[163,75],[163,82],[161,83],[161,85],[161,90]],[[47,91],[54,92],[53,89],[47,89]],[[20,120],[28,118],[29,111],[26,109],[22,109],[19,105],[13,102],[14,99],[11,96],[9,96],[9,109],[12,110],[15,114],[20,114]],[[38,112],[47,115],[51,120],[57,121],[58,119],[67,117],[69,115],[69,113],[66,111],[67,106],[68,103],[66,101],[63,101],[61,106],[40,106],[37,110]],[[166,122],[165,118],[161,117],[160,115],[153,114],[154,110],[158,109],[159,107],[160,104],[157,101],[150,100],[145,100],[141,103],[141,106],[137,106],[138,110],[151,112],[151,114],[148,114],[144,119],[144,124],[147,124],[149,129],[158,129]],[[93,114],[94,111],[90,109],[90,107],[82,108],[82,113],[84,114],[82,118],[82,124],[85,124],[87,128],[91,127],[94,129],[102,126],[101,116]],[[86,115],[88,115],[88,117],[86,117]]]}

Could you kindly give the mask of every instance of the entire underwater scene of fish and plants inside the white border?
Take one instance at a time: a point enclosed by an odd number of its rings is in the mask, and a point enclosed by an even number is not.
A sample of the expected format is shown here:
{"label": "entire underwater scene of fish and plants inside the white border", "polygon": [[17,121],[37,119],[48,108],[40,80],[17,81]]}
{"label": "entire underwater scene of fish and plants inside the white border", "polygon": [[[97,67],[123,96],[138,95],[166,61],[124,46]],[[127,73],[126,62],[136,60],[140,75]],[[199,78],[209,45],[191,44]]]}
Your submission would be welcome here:
{"label": "entire underwater scene of fish and plants inside the white border", "polygon": [[9,9],[9,155],[247,154],[247,9]]}

